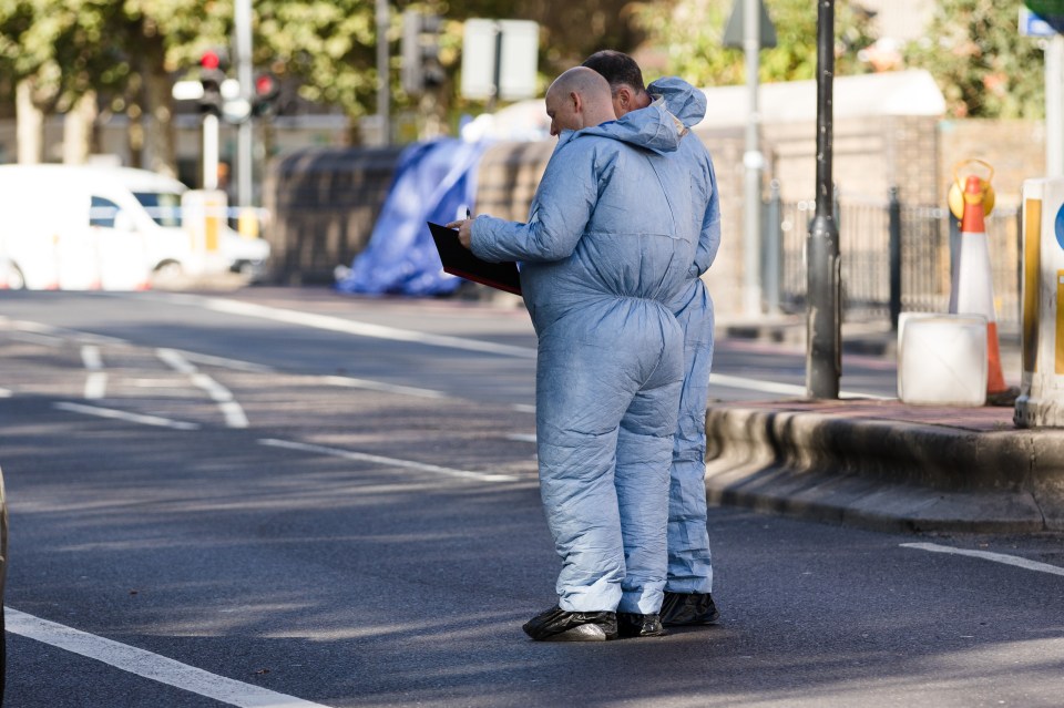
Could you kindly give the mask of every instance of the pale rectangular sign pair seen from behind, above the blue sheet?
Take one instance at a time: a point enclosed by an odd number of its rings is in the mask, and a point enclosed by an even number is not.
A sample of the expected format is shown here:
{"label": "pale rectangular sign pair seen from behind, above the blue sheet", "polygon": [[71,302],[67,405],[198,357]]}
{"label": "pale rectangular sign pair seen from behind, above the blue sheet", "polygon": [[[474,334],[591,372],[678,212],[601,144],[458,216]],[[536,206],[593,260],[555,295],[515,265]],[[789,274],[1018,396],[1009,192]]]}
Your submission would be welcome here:
{"label": "pale rectangular sign pair seen from behind, above the blue sheet", "polygon": [[515,101],[535,96],[540,25],[528,20],[467,20],[462,95]]}

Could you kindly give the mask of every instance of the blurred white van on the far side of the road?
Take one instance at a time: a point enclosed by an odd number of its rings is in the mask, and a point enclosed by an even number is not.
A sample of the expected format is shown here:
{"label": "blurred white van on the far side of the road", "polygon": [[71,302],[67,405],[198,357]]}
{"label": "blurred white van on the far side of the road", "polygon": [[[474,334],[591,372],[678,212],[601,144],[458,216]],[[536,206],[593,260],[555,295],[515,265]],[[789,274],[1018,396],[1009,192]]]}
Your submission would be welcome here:
{"label": "blurred white van on the far side of the road", "polygon": [[260,238],[223,226],[213,253],[196,247],[181,220],[187,191],[145,170],[0,165],[0,287],[137,289],[182,274],[262,275],[269,244]]}

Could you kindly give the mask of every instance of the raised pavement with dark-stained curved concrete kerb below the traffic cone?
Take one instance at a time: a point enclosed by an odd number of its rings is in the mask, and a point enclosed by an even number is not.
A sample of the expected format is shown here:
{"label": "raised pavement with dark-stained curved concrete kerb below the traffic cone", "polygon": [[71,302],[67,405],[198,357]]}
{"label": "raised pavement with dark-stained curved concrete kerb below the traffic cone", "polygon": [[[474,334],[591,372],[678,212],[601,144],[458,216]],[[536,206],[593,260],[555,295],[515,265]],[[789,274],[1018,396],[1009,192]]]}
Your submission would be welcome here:
{"label": "raised pavement with dark-stained curved concrete kerb below the traffic cone", "polygon": [[[756,336],[800,346],[795,329]],[[843,329],[843,351],[893,356],[889,330],[859,332]],[[1019,383],[1017,341],[1002,340],[1002,360]],[[710,503],[886,531],[1064,531],[1064,430],[1016,429],[1012,414],[868,399],[714,403],[706,492]]]}

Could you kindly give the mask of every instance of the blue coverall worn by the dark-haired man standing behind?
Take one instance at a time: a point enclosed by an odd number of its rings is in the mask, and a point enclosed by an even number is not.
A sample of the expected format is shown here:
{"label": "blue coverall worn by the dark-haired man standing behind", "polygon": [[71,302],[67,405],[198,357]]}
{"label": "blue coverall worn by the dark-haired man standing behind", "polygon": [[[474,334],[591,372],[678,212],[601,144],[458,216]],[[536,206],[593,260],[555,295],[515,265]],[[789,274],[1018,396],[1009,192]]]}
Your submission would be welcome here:
{"label": "blue coverall worn by the dark-haired man standing behind", "polygon": [[[685,127],[706,114],[706,95],[683,79],[659,79],[647,92]],[[673,445],[668,492],[668,581],[671,593],[709,593],[713,564],[706,527],[706,403],[713,363],[713,299],[698,277],[709,269],[720,247],[720,202],[713,160],[705,145],[687,135],[673,155],[690,178],[698,248],[690,278],[673,314],[684,330],[684,387]]]}

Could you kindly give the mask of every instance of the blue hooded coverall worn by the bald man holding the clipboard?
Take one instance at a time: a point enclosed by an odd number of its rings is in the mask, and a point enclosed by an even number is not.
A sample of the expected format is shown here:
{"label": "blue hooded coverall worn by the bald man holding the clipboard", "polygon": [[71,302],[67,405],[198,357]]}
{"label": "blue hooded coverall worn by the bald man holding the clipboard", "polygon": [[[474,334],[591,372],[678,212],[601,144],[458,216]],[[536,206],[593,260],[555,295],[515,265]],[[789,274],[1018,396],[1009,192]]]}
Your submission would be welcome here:
{"label": "blue hooded coverall worn by the bald man holding the clipboard", "polygon": [[521,261],[539,338],[540,493],[567,612],[658,612],[683,332],[668,304],[696,242],[677,121],[661,106],[563,132],[528,224],[471,226],[485,260]]}

